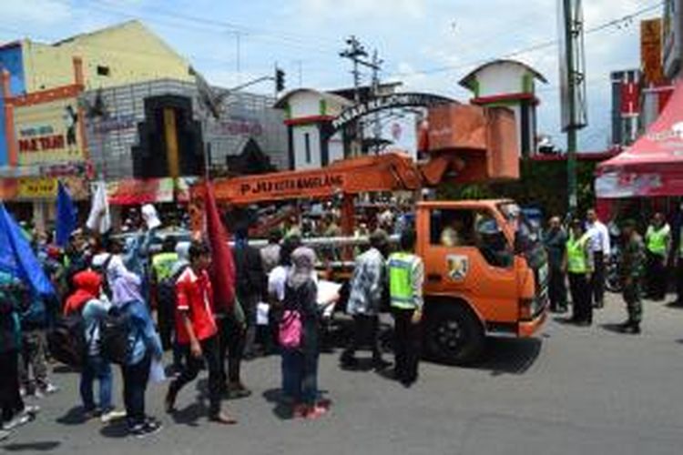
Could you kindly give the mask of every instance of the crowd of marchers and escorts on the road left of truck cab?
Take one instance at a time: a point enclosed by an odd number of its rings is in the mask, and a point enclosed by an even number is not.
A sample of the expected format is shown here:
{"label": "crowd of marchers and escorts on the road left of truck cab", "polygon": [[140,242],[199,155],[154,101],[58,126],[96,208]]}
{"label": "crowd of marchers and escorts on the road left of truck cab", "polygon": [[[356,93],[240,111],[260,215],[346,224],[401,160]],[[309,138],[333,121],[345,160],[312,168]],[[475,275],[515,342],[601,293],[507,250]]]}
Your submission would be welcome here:
{"label": "crowd of marchers and escorts on the road left of truck cab", "polygon": [[[332,219],[327,229],[334,229]],[[388,226],[388,220],[384,223]],[[224,271],[212,268],[207,243],[166,238],[160,250],[152,251],[158,223],[141,226],[118,238],[77,229],[65,248],[56,247],[52,234],[34,235],[36,258],[54,295],[38,296],[20,277],[0,273],[1,439],[36,418],[39,408],[26,404],[25,397],[56,393],[48,377],[48,364],[56,361],[80,373],[83,421],[125,421],[128,433],[137,437],[162,427],[146,408],[150,381],[168,375],[164,408],[173,413],[176,403],[187,399],[185,386],[206,369],[208,419],[231,425],[237,419],[224,409],[223,399],[251,395],[242,380],[242,360],[275,352],[281,356],[281,389],[292,417],[317,419],[330,410],[331,401],[318,388],[321,308],[340,296],[321,300],[315,269],[320,260],[294,227],[273,229],[268,246],[260,249],[250,246],[246,228],[233,233],[235,296],[220,302],[213,281]],[[393,254],[384,230],[376,228],[370,236],[351,280],[348,312],[354,329],[341,359],[342,366],[352,367],[356,351],[370,337],[374,367],[391,366],[377,344],[378,315],[391,307],[395,377],[406,387],[418,377],[423,307],[423,264],[414,246],[410,228],[403,229],[400,251]],[[172,353],[169,365],[162,363],[165,351]],[[120,368],[123,381],[118,408],[113,366]],[[165,372],[159,374],[159,368]]]}

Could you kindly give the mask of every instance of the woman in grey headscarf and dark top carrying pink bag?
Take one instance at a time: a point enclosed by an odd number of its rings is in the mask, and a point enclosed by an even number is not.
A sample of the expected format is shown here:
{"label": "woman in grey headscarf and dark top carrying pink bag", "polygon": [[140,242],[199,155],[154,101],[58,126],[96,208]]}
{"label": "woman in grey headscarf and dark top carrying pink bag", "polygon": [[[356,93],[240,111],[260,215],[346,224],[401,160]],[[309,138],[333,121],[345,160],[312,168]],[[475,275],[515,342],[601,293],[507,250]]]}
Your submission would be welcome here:
{"label": "woman in grey headscarf and dark top carrying pink bag", "polygon": [[319,399],[318,346],[320,317],[318,288],[313,279],[315,252],[301,247],[291,253],[291,268],[287,276],[283,302],[283,321],[298,313],[301,319],[301,341],[298,347],[282,349],[283,384],[285,393],[293,399],[294,417],[317,419],[328,410]]}

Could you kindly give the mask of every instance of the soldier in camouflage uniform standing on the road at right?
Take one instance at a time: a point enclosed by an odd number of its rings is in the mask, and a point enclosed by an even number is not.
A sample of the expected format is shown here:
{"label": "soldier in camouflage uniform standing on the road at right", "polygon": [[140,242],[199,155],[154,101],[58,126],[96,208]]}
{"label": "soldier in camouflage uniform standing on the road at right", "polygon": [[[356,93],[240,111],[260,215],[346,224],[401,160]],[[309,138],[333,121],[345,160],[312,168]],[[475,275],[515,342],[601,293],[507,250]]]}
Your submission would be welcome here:
{"label": "soldier in camouflage uniform standing on the road at right", "polygon": [[646,263],[645,244],[636,231],[634,221],[626,221],[622,232],[625,244],[621,257],[621,277],[624,281],[624,301],[627,304],[628,320],[621,324],[619,329],[624,333],[638,334],[643,317],[640,288]]}

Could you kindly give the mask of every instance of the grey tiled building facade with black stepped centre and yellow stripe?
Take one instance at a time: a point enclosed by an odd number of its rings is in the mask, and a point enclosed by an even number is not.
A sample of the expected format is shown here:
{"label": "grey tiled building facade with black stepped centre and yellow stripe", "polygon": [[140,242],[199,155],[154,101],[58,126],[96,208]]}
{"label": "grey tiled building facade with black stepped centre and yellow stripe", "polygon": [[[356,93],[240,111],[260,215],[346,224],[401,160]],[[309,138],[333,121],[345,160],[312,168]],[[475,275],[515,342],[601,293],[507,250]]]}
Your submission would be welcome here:
{"label": "grey tiled building facade with black stepped centre and yellow stripe", "polygon": [[[214,89],[222,94],[220,88]],[[173,79],[89,90],[87,142],[96,173],[107,180],[199,176],[206,166],[229,169],[253,140],[273,167],[289,167],[283,113],[270,96],[224,97],[218,119],[198,86]]]}

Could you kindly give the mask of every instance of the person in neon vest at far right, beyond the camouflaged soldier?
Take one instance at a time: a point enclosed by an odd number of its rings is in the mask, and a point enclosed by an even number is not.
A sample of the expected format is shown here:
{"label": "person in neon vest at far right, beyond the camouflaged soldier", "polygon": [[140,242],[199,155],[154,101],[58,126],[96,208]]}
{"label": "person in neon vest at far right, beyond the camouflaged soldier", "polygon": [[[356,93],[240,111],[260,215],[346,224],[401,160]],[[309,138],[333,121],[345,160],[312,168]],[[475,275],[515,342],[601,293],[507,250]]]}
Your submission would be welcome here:
{"label": "person in neon vest at far right, beyond the camouflaged soldier", "polygon": [[664,300],[667,295],[667,257],[671,242],[671,228],[661,213],[652,217],[647,227],[647,297]]}

